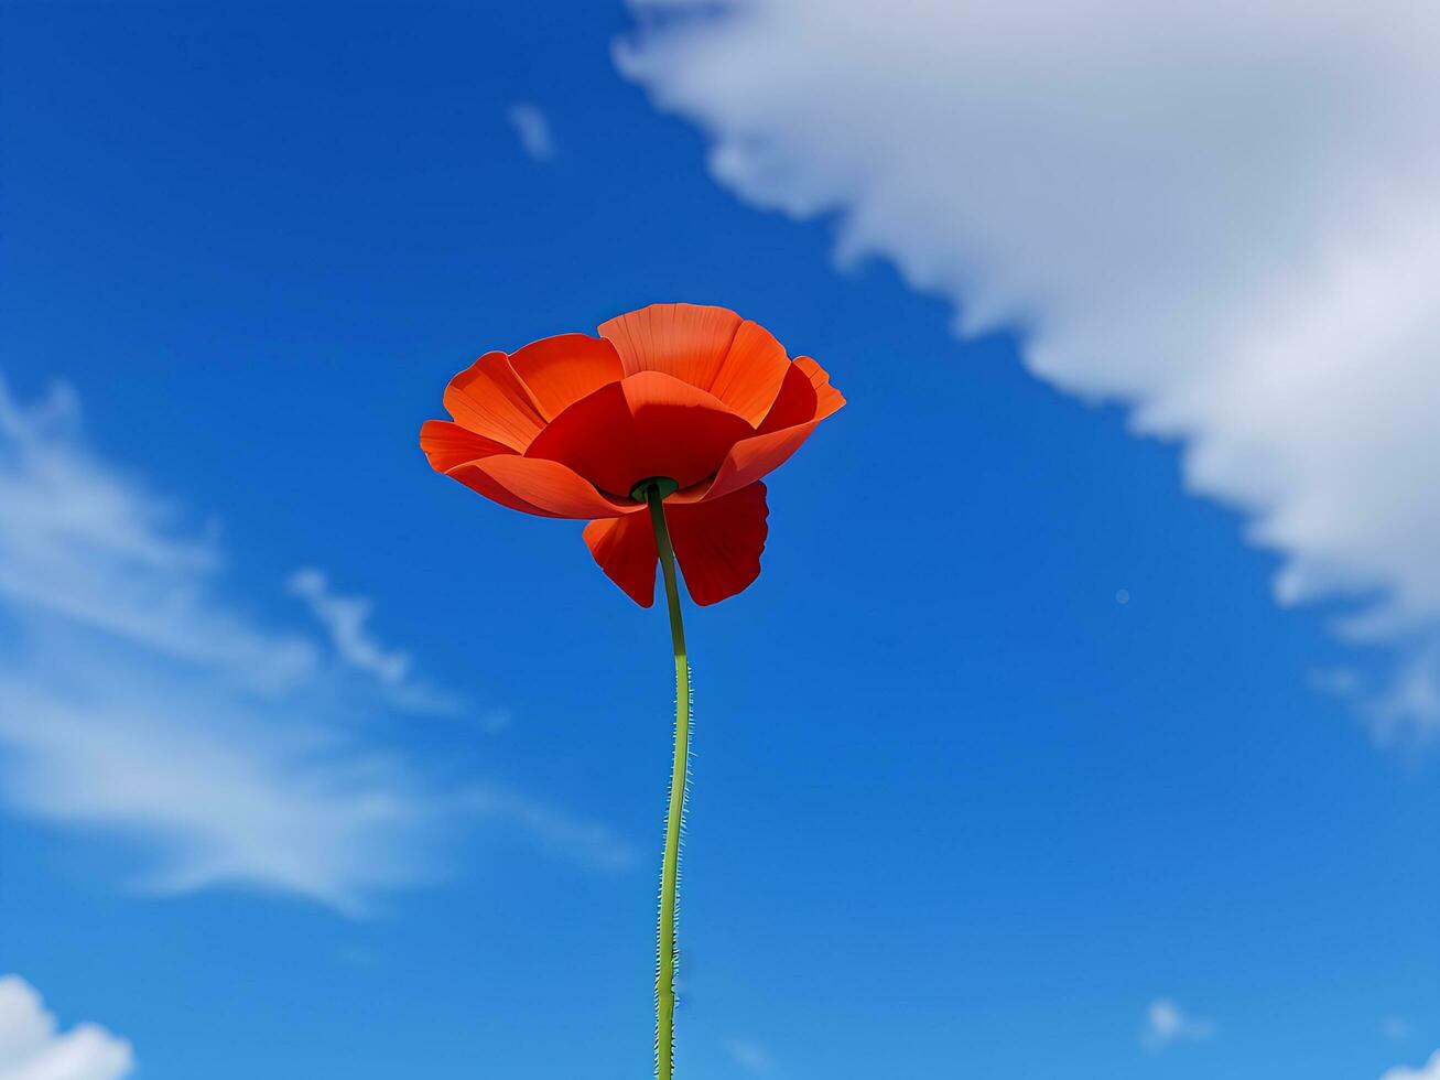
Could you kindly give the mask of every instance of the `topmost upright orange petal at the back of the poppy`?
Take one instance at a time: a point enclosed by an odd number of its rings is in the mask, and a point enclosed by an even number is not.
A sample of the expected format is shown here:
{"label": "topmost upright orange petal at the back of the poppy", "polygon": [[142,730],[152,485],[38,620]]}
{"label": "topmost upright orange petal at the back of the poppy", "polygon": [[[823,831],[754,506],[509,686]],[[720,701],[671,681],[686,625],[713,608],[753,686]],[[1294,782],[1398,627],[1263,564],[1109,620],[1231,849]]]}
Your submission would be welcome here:
{"label": "topmost upright orange petal at the back of the poppy", "polygon": [[651,304],[600,324],[625,374],[664,372],[708,390],[759,425],[779,393],[789,360],[765,327],[729,308]]}

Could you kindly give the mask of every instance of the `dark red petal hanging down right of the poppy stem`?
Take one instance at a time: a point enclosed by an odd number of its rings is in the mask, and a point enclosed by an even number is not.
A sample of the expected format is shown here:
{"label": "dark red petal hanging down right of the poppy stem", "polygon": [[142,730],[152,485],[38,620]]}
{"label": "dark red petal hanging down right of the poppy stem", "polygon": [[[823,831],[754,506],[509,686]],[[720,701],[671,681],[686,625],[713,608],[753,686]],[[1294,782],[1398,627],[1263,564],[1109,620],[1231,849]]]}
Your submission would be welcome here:
{"label": "dark red petal hanging down right of the poppy stem", "polygon": [[704,503],[665,504],[670,540],[696,603],[719,603],[760,576],[768,514],[765,484],[750,484]]}

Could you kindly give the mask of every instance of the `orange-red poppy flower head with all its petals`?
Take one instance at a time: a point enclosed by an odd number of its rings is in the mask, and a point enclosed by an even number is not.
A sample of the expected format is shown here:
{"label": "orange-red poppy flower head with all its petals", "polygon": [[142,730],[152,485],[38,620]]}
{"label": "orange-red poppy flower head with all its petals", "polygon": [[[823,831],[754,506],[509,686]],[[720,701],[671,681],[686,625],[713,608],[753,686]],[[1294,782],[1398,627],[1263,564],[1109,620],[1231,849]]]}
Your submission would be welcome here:
{"label": "orange-red poppy flower head with all its petals", "polygon": [[631,492],[672,480],[665,518],[690,596],[734,596],[760,573],[760,477],[845,399],[819,364],[726,308],[654,304],[599,334],[480,357],[445,390],[454,422],[428,420],[420,448],[501,505],[590,518],[595,562],[645,608],[658,554]]}

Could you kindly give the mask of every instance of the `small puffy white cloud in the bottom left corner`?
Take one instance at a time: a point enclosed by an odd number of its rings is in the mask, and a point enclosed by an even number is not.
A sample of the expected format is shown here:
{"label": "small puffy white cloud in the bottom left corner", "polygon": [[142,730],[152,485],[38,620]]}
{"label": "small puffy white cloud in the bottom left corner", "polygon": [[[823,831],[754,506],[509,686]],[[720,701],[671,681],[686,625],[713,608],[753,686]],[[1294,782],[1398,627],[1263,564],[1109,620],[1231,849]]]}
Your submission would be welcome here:
{"label": "small puffy white cloud in the bottom left corner", "polygon": [[130,1043],[96,1024],[62,1034],[29,982],[0,978],[0,1080],[121,1080],[132,1068]]}

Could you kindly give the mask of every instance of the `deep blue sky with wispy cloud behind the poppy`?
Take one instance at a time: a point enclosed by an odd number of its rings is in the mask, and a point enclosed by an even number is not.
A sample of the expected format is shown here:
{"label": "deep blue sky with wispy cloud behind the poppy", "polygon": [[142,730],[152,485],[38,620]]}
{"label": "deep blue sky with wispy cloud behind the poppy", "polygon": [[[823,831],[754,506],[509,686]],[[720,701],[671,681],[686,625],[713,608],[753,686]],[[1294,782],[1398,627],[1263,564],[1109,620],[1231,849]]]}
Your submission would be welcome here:
{"label": "deep blue sky with wispy cloud behind the poppy", "polygon": [[645,1074],[664,618],[416,432],[481,351],[687,300],[850,402],[687,626],[687,1080],[1440,1045],[1433,755],[1316,690],[1392,642],[1277,605],[1309,549],[1031,320],[960,340],[923,252],[837,272],[838,196],[747,204],[629,12],[4,22],[0,968],[62,1028],[144,1080]]}

